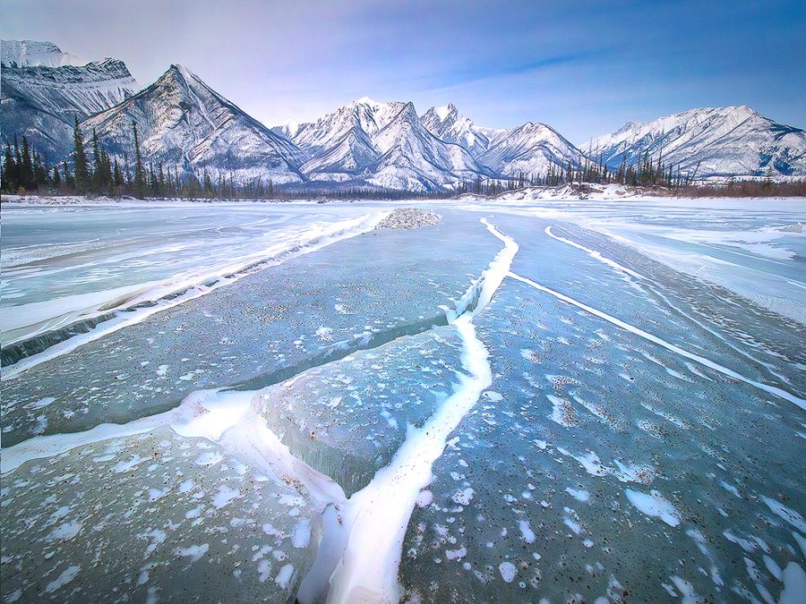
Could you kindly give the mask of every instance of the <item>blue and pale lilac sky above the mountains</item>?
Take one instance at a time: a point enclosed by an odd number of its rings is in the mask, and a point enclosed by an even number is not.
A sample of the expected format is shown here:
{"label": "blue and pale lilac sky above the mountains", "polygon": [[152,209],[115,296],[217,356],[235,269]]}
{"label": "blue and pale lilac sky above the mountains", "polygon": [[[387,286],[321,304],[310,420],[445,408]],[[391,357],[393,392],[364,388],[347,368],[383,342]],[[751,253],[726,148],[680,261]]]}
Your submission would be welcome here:
{"label": "blue and pale lilac sky above the mountains", "polygon": [[628,121],[747,105],[806,128],[806,2],[3,0],[3,39],[122,59],[146,85],[184,64],[267,124],[351,100],[454,103],[575,144]]}

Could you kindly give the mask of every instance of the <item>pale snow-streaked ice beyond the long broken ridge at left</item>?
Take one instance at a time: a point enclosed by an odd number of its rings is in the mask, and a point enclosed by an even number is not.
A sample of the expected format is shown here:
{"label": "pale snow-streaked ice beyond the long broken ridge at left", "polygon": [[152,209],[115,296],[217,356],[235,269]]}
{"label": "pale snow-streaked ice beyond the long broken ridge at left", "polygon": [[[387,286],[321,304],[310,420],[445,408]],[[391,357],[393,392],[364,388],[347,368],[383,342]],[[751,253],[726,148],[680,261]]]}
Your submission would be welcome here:
{"label": "pale snow-streaked ice beyond the long broken ridge at left", "polygon": [[370,213],[290,204],[4,209],[3,345],[359,232]]}

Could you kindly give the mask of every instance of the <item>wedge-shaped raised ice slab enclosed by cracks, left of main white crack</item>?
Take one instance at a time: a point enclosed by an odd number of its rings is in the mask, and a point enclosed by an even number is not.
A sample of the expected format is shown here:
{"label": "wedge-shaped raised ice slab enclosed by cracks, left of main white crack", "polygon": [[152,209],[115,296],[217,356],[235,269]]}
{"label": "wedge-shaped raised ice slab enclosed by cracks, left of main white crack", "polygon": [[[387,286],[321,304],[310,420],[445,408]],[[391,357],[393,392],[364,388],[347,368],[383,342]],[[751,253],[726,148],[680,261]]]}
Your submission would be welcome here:
{"label": "wedge-shaped raised ice slab enclosed by cracks, left of main white crack", "polygon": [[292,453],[362,489],[450,395],[462,346],[451,328],[400,337],[268,388],[253,407]]}

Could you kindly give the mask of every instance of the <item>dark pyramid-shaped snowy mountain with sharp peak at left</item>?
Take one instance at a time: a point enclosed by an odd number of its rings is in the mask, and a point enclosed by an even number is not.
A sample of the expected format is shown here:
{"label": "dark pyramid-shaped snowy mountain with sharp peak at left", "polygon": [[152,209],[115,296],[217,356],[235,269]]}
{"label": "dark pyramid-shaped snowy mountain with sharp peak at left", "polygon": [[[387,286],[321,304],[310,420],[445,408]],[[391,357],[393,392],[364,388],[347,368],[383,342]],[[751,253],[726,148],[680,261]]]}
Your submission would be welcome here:
{"label": "dark pyramid-shaped snowy mountain with sharp peak at left", "polygon": [[81,123],[93,129],[112,157],[134,157],[136,122],[146,163],[162,162],[179,174],[201,179],[205,170],[236,183],[298,183],[304,154],[223,98],[181,65],[171,65],[158,81],[133,97]]}

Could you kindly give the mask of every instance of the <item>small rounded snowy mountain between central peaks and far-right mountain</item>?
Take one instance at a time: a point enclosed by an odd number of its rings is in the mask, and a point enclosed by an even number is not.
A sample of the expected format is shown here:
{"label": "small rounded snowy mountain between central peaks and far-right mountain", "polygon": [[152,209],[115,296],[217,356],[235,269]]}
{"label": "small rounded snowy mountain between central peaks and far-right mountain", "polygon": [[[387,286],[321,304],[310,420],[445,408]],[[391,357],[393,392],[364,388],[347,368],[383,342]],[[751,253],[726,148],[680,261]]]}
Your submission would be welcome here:
{"label": "small rounded snowy mountain between central peaks and far-right mountain", "polygon": [[478,161],[503,176],[517,177],[521,172],[537,176],[548,174],[552,164],[577,166],[580,155],[579,149],[550,126],[527,122],[498,131]]}

